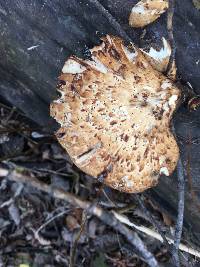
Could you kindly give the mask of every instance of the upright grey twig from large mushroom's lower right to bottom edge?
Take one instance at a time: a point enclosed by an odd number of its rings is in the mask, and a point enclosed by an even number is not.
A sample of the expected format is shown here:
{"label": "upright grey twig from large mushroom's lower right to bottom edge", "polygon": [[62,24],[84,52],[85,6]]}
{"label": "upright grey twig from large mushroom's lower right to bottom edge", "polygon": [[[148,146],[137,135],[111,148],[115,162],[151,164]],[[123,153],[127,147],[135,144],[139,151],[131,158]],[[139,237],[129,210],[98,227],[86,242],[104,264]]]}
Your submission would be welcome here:
{"label": "upright grey twig from large mushroom's lower right to bottom edge", "polygon": [[178,216],[176,220],[176,228],[174,235],[174,249],[173,260],[177,267],[180,266],[178,248],[181,241],[183,218],[184,218],[184,198],[185,198],[185,177],[181,158],[177,164],[177,178],[178,178]]}

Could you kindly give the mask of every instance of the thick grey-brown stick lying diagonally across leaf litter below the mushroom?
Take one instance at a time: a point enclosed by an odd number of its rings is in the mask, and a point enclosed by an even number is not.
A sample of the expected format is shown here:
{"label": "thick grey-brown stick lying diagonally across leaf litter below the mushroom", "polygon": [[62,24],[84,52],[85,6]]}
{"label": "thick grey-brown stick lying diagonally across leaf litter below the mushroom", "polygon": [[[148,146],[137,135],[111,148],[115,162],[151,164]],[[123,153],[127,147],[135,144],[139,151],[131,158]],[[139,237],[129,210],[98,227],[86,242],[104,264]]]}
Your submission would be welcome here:
{"label": "thick grey-brown stick lying diagonally across leaf litter below the mushroom", "polygon": [[98,205],[93,205],[91,207],[91,203],[88,201],[84,201],[69,192],[65,192],[56,188],[53,189],[51,188],[51,186],[40,182],[36,178],[29,177],[15,170],[11,170],[6,178],[15,182],[28,183],[29,185],[32,185],[41,191],[51,194],[55,198],[67,201],[73,206],[78,206],[82,209],[87,209],[90,214],[98,217],[106,225],[112,227],[113,229],[121,233],[128,240],[128,242],[133,245],[134,248],[139,252],[140,258],[143,259],[150,267],[158,266],[157,260],[152,255],[152,253],[147,250],[139,236],[135,232],[132,232],[125,225],[123,225],[114,216],[113,213],[103,210]]}

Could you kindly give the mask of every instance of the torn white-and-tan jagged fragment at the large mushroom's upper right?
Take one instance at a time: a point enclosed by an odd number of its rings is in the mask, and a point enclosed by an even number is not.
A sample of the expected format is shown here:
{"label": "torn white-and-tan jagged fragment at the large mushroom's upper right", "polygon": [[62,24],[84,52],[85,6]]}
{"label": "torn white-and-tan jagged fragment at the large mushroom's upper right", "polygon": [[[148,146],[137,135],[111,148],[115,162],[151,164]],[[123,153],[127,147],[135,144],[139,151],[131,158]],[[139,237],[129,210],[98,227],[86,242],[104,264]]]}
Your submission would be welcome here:
{"label": "torn white-and-tan jagged fragment at the large mushroom's upper right", "polygon": [[151,47],[148,52],[143,49],[140,50],[144,53],[144,56],[154,69],[164,73],[167,70],[170,60],[171,46],[164,37],[162,38],[162,42],[163,47],[160,49]]}

